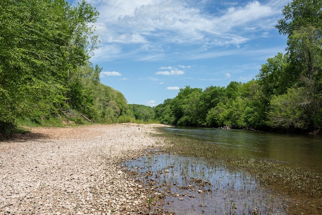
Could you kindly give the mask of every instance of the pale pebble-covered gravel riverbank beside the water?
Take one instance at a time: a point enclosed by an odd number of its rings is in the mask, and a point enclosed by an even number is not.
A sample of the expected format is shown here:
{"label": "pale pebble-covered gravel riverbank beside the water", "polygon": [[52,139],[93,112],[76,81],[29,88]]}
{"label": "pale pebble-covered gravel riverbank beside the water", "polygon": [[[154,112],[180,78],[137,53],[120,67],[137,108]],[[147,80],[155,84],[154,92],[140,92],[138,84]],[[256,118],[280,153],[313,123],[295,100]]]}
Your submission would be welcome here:
{"label": "pale pebble-covered gravel riverbank beside the water", "polygon": [[0,214],[137,214],[151,190],[118,165],[163,141],[160,124],[32,128],[0,142]]}

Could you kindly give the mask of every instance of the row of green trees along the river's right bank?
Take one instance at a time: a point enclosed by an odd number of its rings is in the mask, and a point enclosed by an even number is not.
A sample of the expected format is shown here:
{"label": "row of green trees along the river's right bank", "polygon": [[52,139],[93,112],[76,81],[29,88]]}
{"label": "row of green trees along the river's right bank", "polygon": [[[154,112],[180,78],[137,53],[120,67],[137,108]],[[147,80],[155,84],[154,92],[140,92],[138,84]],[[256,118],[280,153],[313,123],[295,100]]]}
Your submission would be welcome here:
{"label": "row of green trees along the river's right bank", "polygon": [[256,79],[205,90],[186,86],[154,108],[165,124],[318,131],[322,126],[322,2],[293,0],[276,28],[286,53],[262,65]]}

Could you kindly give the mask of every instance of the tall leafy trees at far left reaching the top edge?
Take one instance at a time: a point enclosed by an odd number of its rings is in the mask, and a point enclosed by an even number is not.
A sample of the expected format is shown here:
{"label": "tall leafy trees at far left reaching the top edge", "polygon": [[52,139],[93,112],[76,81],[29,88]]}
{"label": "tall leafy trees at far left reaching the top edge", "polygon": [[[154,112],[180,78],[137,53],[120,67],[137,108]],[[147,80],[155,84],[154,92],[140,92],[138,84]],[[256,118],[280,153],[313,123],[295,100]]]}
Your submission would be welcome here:
{"label": "tall leafy trees at far left reaching the top edge", "polygon": [[0,11],[0,126],[39,103],[66,107],[66,77],[86,64],[98,13],[64,0],[4,0]]}

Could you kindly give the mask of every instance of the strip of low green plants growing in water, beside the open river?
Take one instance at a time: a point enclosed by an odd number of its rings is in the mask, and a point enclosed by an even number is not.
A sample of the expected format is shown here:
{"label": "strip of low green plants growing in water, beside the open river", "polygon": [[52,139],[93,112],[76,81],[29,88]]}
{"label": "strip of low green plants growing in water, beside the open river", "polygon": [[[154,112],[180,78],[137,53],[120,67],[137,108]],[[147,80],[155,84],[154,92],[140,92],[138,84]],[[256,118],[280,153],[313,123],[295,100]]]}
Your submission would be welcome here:
{"label": "strip of low green plants growing in water, beside the open river", "polygon": [[304,171],[284,164],[258,159],[252,156],[241,156],[225,147],[201,142],[176,134],[152,134],[166,137],[164,150],[186,157],[204,158],[208,162],[222,164],[231,171],[247,171],[260,180],[261,185],[287,193],[299,193],[308,197],[320,197],[322,178],[318,173]]}

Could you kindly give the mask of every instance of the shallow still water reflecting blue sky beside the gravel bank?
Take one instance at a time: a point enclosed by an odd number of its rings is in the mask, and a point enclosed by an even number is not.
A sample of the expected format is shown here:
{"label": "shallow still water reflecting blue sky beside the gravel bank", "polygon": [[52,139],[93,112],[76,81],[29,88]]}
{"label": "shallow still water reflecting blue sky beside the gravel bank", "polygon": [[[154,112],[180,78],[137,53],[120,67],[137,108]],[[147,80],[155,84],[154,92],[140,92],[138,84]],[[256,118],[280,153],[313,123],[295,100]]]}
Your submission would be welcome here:
{"label": "shallow still water reflecting blue sky beside the gravel bank", "polygon": [[[155,189],[151,204],[174,214],[285,214],[291,199],[260,186],[256,177],[200,158],[156,153],[124,164]],[[152,204],[154,214],[158,206]]]}

